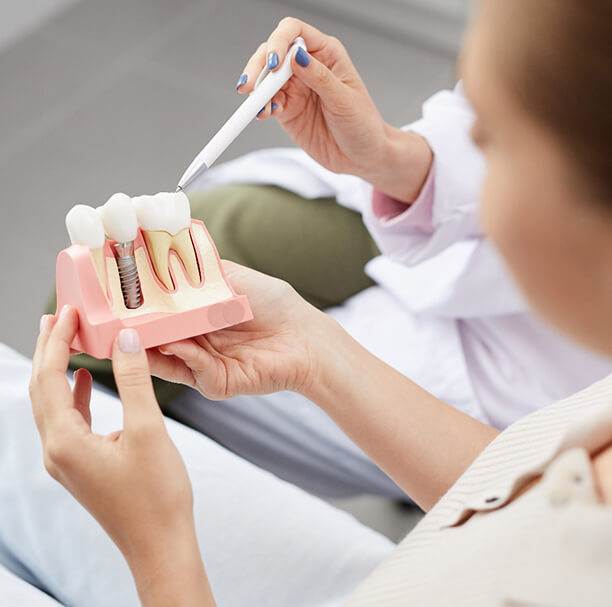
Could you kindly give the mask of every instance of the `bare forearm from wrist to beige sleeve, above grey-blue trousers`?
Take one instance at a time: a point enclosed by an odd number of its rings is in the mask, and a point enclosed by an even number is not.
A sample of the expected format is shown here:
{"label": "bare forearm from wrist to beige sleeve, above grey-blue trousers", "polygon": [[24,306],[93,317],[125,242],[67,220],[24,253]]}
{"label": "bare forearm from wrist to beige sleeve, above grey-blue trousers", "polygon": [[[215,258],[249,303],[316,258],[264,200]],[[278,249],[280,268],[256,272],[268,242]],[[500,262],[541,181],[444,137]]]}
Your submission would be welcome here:
{"label": "bare forearm from wrist to beige sleeve, above grey-blue trousers", "polygon": [[305,395],[428,510],[498,431],[417,386],[332,319],[325,322]]}

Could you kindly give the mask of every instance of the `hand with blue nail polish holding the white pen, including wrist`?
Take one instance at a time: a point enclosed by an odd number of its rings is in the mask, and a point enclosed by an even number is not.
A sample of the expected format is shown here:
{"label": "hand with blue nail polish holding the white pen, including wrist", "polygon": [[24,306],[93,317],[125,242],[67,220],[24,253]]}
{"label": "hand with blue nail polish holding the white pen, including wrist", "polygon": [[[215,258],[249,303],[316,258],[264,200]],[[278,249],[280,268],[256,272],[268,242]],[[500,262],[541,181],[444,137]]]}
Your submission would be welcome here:
{"label": "hand with blue nail polish holding the white pen, including wrist", "polygon": [[298,36],[308,53],[300,49],[294,55],[294,76],[258,118],[275,116],[291,139],[327,169],[357,175],[398,200],[413,201],[432,152],[420,136],[385,123],[338,39],[298,19],[283,19],[247,63],[238,91],[252,92],[264,65],[276,69]]}

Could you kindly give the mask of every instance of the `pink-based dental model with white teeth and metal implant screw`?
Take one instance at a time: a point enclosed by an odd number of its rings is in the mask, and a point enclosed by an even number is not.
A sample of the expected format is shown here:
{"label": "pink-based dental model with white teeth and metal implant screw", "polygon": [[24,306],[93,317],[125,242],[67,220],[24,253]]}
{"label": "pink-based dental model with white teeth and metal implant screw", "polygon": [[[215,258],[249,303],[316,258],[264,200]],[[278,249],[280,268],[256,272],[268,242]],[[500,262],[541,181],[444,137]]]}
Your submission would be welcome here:
{"label": "pink-based dental model with white teeth and metal implant screw", "polygon": [[57,305],[78,310],[76,352],[110,357],[125,327],[152,348],[253,318],[182,192],[77,205],[66,227],[72,246],[57,258]]}

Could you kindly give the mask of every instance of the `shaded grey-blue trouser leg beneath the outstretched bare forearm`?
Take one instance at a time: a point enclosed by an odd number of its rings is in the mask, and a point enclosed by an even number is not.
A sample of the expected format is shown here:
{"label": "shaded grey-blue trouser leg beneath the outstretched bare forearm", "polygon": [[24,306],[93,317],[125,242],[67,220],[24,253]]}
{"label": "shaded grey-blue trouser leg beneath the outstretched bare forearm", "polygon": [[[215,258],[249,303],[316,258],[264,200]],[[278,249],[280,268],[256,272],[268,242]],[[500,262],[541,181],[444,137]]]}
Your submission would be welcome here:
{"label": "shaded grey-blue trouser leg beneath the outstretched bare forearm", "polygon": [[237,396],[219,403],[188,390],[164,411],[316,495],[408,499],[326,413],[300,394]]}

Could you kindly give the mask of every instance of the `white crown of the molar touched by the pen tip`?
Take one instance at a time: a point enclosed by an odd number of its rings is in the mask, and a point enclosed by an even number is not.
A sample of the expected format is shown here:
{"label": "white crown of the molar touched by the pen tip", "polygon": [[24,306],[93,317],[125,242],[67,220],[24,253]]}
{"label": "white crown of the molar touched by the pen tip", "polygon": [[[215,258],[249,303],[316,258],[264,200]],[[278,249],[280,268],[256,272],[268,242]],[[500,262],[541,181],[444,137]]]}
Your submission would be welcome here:
{"label": "white crown of the molar touched by the pen tip", "polygon": [[143,230],[168,232],[172,236],[191,225],[189,199],[183,192],[160,192],[132,199]]}

